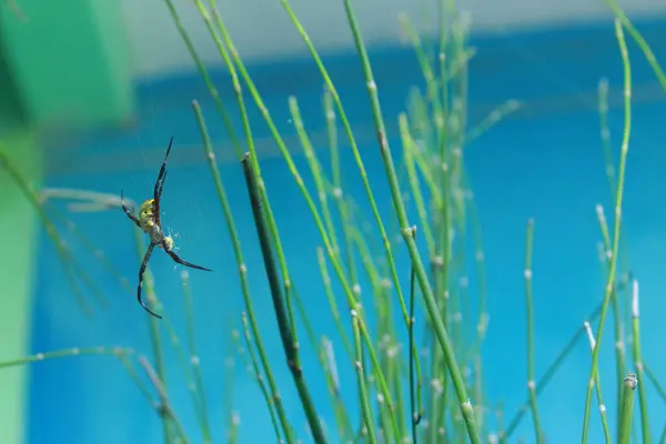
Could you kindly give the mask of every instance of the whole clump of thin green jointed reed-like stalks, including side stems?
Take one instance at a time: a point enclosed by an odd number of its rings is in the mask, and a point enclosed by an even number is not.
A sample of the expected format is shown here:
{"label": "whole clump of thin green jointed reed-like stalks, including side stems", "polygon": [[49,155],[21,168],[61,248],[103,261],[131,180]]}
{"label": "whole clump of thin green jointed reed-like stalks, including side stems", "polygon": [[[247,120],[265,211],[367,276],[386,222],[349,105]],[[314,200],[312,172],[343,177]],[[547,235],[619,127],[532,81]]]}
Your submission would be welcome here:
{"label": "whole clump of thin green jointed reed-like stalks, including side stems", "polygon": [[[487,398],[484,387],[482,351],[488,322],[485,262],[481,222],[472,193],[471,178],[465,165],[465,147],[498,123],[504,115],[519,109],[521,104],[516,101],[507,101],[492,111],[482,122],[477,124],[467,122],[467,69],[468,60],[474,57],[474,50],[468,46],[468,20],[457,13],[455,2],[438,1],[438,37],[434,42],[422,39],[416,31],[417,28],[407,17],[400,18],[400,24],[416,53],[425,89],[413,89],[406,101],[405,111],[398,115],[395,124],[398,128],[401,150],[394,150],[392,144],[396,141],[390,140],[386,133],[386,125],[390,123],[385,121],[382,112],[377,84],[357,24],[353,1],[343,1],[350,32],[354,38],[362,65],[359,82],[365,84],[367,90],[367,105],[372,112],[376,133],[375,147],[380,151],[385,180],[391,191],[393,214],[382,214],[363,160],[364,157],[374,155],[376,152],[361,152],[352,122],[347,118],[336,87],[289,0],[280,1],[303,39],[325,85],[322,101],[326,119],[330,171],[323,167],[325,162],[320,158],[322,152],[314,149],[299,101],[295,97],[289,97],[291,118],[309,171],[303,172],[299,169],[292,151],[286,147],[284,135],[278,130],[270,110],[234,46],[224,21],[224,11],[219,9],[214,0],[208,4],[202,0],[192,1],[193,7],[201,13],[220,58],[230,73],[234,93],[232,100],[234,112],[241,117],[240,129],[231,123],[229,101],[223,101],[220,97],[172,0],[164,0],[215,103],[219,118],[222,119],[226,135],[234,147],[239,168],[243,171],[254,231],[261,244],[263,272],[266,286],[270,289],[284,354],[283,362],[269,360],[262,336],[272,332],[262,331],[256,321],[256,309],[248,282],[248,265],[235,226],[234,209],[229,202],[213,142],[208,131],[206,120],[210,122],[212,118],[204,118],[199,100],[193,100],[191,104],[201,133],[202,157],[210,168],[213,185],[223,210],[244,305],[242,314],[235,314],[234,322],[238,327],[229,332],[236,351],[235,357],[229,361],[229,369],[240,360],[256,381],[265,401],[266,418],[271,421],[276,442],[296,443],[305,438],[297,432],[301,427],[289,417],[280,394],[281,391],[290,387],[279,386],[275,377],[275,369],[286,365],[292,376],[291,383],[296,390],[307,421],[310,438],[317,444],[329,442],[505,443],[515,437],[517,426],[525,415],[532,416],[533,442],[544,443],[548,431],[542,425],[538,396],[573,349],[585,336],[592,354],[585,415],[582,424],[567,424],[567,426],[579,425],[581,441],[587,442],[591,420],[595,421],[592,414],[592,401],[593,395],[596,395],[605,441],[628,443],[632,427],[636,426],[632,422],[635,417],[633,405],[636,391],[642,441],[644,443],[654,441],[648,417],[653,421],[655,417],[648,416],[646,391],[654,387],[664,400],[666,393],[659,384],[658,376],[649,370],[640,351],[639,286],[637,280],[629,273],[626,259],[627,246],[622,235],[620,214],[632,129],[632,78],[625,31],[644,52],[665,92],[666,77],[648,44],[614,0],[608,0],[608,6],[616,17],[615,31],[624,67],[625,127],[620,157],[616,163],[607,125],[608,87],[606,81],[602,81],[599,83],[601,134],[606,154],[609,195],[615,204],[612,228],[608,226],[604,209],[597,208],[602,238],[601,264],[606,276],[605,294],[599,306],[586,320],[582,320],[581,329],[574,332],[562,352],[539,377],[534,370],[535,324],[532,294],[532,251],[536,225],[534,220],[527,221],[524,264],[527,390],[526,401],[517,412],[504,412],[498,404]],[[313,246],[313,253],[316,253],[322,276],[324,297],[321,301],[327,303],[340,336],[335,341],[321,336],[316,326],[312,325],[299,295],[299,283],[292,280],[287,255],[271,208],[271,189],[262,175],[253,135],[255,122],[252,122],[249,117],[250,107],[259,109],[317,229],[321,244]],[[342,130],[342,138],[339,134],[340,130]],[[238,131],[241,131],[242,135],[239,135]],[[351,150],[353,154],[356,172],[363,183],[362,195],[357,195],[355,190],[350,190],[345,185],[340,162],[341,148]],[[92,250],[100,264],[114,275],[129,293],[133,293],[134,290],[128,285],[127,279],[114,269],[94,243],[68,220],[73,211],[81,210],[81,205],[84,205],[87,211],[107,209],[118,211],[117,196],[80,190],[34,191],[22,180],[20,171],[11,165],[1,149],[0,165],[10,173],[17,185],[23,190],[26,198],[34,204],[49,238],[60,253],[65,270],[73,270],[74,273],[82,269],[75,265],[75,258],[67,254],[62,249],[62,234],[56,228],[58,221],[64,222],[67,231],[77,236],[85,248]],[[314,190],[306,185],[303,174],[312,174]],[[50,204],[58,199],[77,200],[79,206],[74,209],[71,204],[70,214],[63,214],[56,205]],[[366,204],[370,208],[370,218],[363,211]],[[416,214],[416,220],[410,220],[408,214]],[[395,233],[400,233],[397,239]],[[138,258],[141,259],[145,246],[141,233],[134,230],[132,235],[134,235]],[[470,245],[473,245],[472,252]],[[476,264],[474,272],[467,270],[470,253]],[[398,266],[397,258],[401,254],[406,254],[408,258],[408,270],[401,270]],[[478,280],[475,291],[470,289],[467,276],[471,275]],[[85,274],[80,275],[81,279],[84,276]],[[77,283],[73,279],[72,282],[74,294],[78,294]],[[369,293],[362,294],[362,282],[369,283],[371,287]],[[180,420],[179,411],[183,406],[174,405],[170,401],[168,384],[170,381],[167,380],[163,359],[164,337],[168,337],[170,346],[178,353],[182,377],[192,387],[190,396],[202,442],[211,443],[212,431],[224,428],[226,441],[235,443],[239,441],[240,422],[234,412],[234,397],[231,390],[233,371],[228,372],[229,390],[228,397],[224,400],[228,420],[224,424],[218,424],[210,416],[210,393],[205,391],[196,359],[192,297],[186,272],[182,274],[182,284],[183,300],[188,309],[185,325],[188,339],[184,342],[186,346],[180,341],[176,329],[167,315],[163,320],[150,317],[148,321],[148,333],[152,343],[150,359],[130,349],[74,349],[1,362],[0,367],[83,354],[114,356],[120,360],[138,389],[154,406],[158,418],[162,422],[164,442],[196,442],[190,437],[191,431]],[[150,272],[145,280],[145,294],[152,306],[164,311]],[[339,306],[340,296],[345,303],[344,307]],[[475,310],[471,309],[472,300]],[[626,305],[629,307],[628,311],[626,306],[622,306],[622,301],[630,301]],[[617,397],[613,402],[618,412],[615,418],[606,415],[606,404],[602,397],[605,387],[602,385],[602,373],[598,366],[599,344],[604,337],[609,310],[613,314],[617,344],[616,373],[612,376],[603,376],[605,381],[610,377],[615,382]],[[627,341],[623,324],[627,316],[630,319],[633,334],[630,360],[624,350]],[[470,323],[470,320],[474,321]],[[304,340],[300,337],[303,334]],[[316,352],[316,362],[306,363],[302,360],[303,347],[311,347]],[[337,371],[342,366],[351,366],[354,370],[355,384],[345,384],[356,387],[357,404],[354,406],[343,401]],[[143,370],[147,377],[139,376],[137,371],[139,367]],[[629,372],[632,369],[635,374]],[[321,372],[324,375],[334,426],[322,422],[323,403],[320,400],[315,402],[311,394],[312,383],[309,375],[313,372]],[[646,380],[650,381],[652,386]],[[608,397],[605,402],[608,402]],[[509,414],[511,420],[504,424],[503,417],[506,414]],[[666,427],[662,433],[660,442],[666,442],[665,440]]]}

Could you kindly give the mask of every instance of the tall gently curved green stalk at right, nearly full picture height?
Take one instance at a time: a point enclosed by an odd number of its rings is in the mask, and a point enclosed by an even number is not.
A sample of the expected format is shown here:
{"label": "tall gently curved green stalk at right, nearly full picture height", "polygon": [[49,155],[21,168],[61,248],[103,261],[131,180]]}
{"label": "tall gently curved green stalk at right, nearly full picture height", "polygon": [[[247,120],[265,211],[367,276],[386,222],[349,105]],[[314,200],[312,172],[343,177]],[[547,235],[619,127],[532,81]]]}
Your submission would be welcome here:
{"label": "tall gently curved green stalk at right, nearly full picture height", "polygon": [[[617,193],[615,200],[615,223],[614,223],[614,236],[613,236],[613,256],[610,258],[610,270],[608,272],[608,280],[606,283],[606,294],[604,296],[604,305],[602,307],[602,314],[599,316],[599,325],[596,333],[597,346],[594,349],[592,355],[592,369],[589,374],[589,380],[592,381],[595,373],[598,371],[598,360],[599,360],[599,350],[602,344],[602,334],[604,333],[604,325],[606,322],[606,313],[608,311],[608,305],[610,303],[610,297],[613,293],[613,287],[615,286],[615,271],[617,269],[617,254],[619,252],[619,232],[622,225],[622,203],[623,203],[623,194],[624,194],[624,180],[625,180],[625,169],[627,162],[627,153],[629,151],[629,137],[632,130],[632,70],[629,64],[629,56],[627,52],[626,42],[624,39],[624,33],[622,30],[622,26],[619,20],[615,20],[615,33],[617,37],[617,42],[619,46],[619,52],[623,60],[624,67],[624,113],[625,113],[625,127],[624,134],[622,141],[622,150],[620,150],[620,159],[619,159],[619,172],[617,180]],[[588,384],[587,394],[585,401],[585,416],[583,420],[583,444],[587,443],[587,431],[589,423],[589,408],[592,404],[592,391],[594,384]]]}

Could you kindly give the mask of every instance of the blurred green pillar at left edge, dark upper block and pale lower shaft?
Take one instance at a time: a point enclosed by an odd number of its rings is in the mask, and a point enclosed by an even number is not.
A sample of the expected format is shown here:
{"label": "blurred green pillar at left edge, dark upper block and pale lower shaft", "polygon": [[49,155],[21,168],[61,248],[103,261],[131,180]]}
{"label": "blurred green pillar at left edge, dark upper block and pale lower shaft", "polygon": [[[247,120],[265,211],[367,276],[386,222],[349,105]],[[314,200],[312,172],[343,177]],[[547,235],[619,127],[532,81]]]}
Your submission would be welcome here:
{"label": "blurred green pillar at left edge, dark upper block and pale lower shaft", "polygon": [[[0,0],[0,149],[36,189],[43,179],[44,131],[112,128],[131,118],[134,98],[120,8],[118,1]],[[39,219],[1,168],[0,208],[4,361],[28,354]],[[3,444],[24,438],[26,370],[0,371]]]}

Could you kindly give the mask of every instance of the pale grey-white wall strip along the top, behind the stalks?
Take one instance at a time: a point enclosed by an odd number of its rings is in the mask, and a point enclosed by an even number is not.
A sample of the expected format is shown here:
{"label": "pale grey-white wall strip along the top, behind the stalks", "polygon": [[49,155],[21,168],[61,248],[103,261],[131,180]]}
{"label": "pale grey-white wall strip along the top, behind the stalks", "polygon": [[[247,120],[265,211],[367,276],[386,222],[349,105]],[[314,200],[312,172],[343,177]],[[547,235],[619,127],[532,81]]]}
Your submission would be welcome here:
{"label": "pale grey-white wall strip along the top, behind the stalks", "polygon": [[[208,0],[203,0],[208,3]],[[355,0],[367,43],[396,41],[397,14],[414,21],[436,20],[438,0]],[[192,0],[173,0],[183,24],[204,62],[219,56]],[[618,0],[632,17],[666,12],[665,0]],[[305,48],[280,0],[218,0],[241,56],[272,58],[304,52]],[[353,44],[342,0],[291,0],[315,46],[340,50]],[[473,30],[509,32],[516,27],[543,26],[609,17],[605,0],[458,0],[471,13]],[[127,31],[138,77],[192,69],[192,61],[163,0],[123,0]],[[423,29],[423,28],[422,28]]]}

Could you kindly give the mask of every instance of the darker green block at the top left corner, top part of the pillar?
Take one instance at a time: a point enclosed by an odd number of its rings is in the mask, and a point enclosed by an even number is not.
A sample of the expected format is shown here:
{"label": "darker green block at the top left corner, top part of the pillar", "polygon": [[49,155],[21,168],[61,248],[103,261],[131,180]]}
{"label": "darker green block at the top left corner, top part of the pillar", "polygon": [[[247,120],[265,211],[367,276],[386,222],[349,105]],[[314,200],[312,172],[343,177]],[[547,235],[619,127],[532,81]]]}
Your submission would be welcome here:
{"label": "darker green block at the top left corner, top part of the pillar", "polygon": [[117,124],[130,117],[133,95],[120,2],[16,0],[22,20],[9,1],[0,1],[2,68],[18,95],[16,111],[27,122],[62,130]]}

